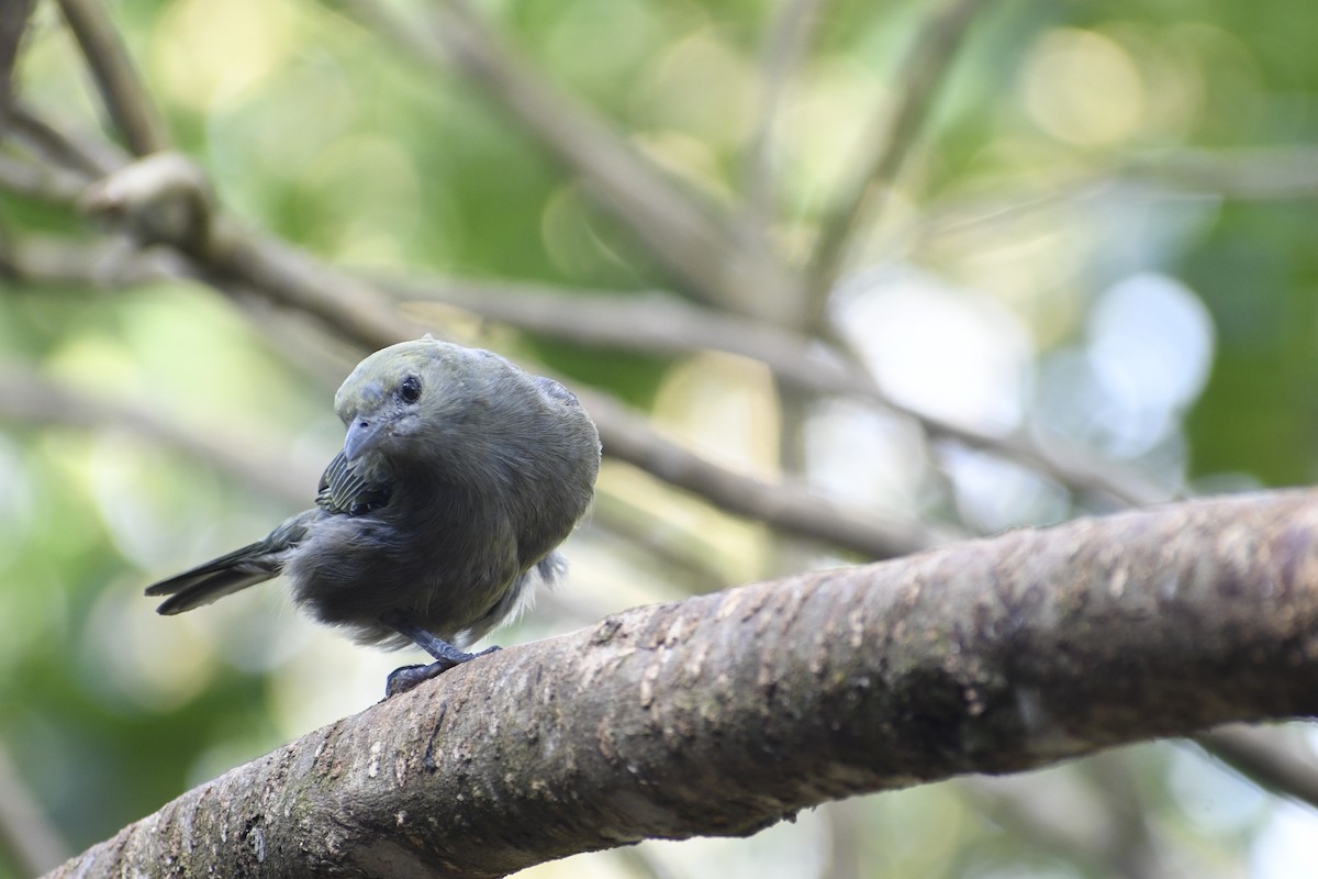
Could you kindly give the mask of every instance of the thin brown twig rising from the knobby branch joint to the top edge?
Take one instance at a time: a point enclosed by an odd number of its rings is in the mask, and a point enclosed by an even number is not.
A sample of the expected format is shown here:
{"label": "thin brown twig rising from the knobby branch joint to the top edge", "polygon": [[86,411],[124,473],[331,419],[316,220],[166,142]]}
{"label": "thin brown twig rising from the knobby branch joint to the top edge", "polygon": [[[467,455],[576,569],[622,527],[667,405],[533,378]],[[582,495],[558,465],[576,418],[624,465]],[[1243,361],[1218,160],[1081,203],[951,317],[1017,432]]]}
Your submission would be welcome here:
{"label": "thin brown twig rising from the knobby branch joint to the top edge", "polygon": [[101,101],[136,156],[169,149],[165,123],[152,104],[115,25],[99,0],[58,0],[78,40]]}

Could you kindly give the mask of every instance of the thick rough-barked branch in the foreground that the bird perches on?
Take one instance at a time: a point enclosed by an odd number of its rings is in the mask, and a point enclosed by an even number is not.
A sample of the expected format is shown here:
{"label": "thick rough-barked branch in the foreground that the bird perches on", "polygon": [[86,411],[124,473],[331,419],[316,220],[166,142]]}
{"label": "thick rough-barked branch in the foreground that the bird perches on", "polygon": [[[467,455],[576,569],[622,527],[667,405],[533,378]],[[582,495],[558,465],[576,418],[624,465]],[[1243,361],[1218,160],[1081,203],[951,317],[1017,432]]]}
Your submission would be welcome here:
{"label": "thick rough-barked branch in the foreground that the bird perches on", "polygon": [[638,608],[185,793],[51,875],[498,876],[1318,710],[1318,494]]}

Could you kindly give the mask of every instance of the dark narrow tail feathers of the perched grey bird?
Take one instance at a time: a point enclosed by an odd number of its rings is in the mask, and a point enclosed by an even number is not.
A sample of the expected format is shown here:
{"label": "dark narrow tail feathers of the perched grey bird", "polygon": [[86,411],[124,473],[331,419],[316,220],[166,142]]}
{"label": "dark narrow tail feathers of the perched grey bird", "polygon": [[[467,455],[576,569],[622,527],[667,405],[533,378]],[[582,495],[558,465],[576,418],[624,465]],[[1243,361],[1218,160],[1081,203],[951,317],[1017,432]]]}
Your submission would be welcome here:
{"label": "dark narrow tail feathers of the perched grey bird", "polygon": [[156,610],[177,614],[269,580],[279,573],[285,553],[306,536],[307,522],[314,515],[314,510],[295,515],[264,540],[154,582],[146,588],[146,594],[169,596]]}

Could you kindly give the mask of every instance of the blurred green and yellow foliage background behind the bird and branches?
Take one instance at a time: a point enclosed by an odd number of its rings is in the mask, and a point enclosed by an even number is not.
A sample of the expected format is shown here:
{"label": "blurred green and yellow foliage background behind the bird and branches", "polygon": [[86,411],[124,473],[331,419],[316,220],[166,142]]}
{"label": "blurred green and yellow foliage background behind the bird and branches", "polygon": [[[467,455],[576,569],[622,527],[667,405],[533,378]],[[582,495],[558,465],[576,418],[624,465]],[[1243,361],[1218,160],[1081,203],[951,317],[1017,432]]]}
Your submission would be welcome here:
{"label": "blurred green and yellow foliage background behind the bird and branches", "polygon": [[[873,150],[871,116],[900,95],[898,59],[925,9],[909,0],[818,4],[774,129],[768,235],[791,261],[805,262],[836,187]],[[179,148],[253,227],[372,271],[597,295],[692,293],[481,91],[423,67],[332,4],[123,0],[111,11]],[[481,12],[539,75],[612,120],[681,187],[730,213],[742,204],[762,53],[779,4],[500,0]],[[857,240],[849,281],[898,266],[1003,315],[994,326],[1024,340],[1012,343],[1025,351],[1025,368],[1010,389],[1024,424],[1102,451],[1133,448],[1128,463],[1172,482],[1311,482],[1315,17],[1318,8],[1302,4],[1226,0],[991,4],[966,36],[908,173]],[[83,130],[104,116],[53,4],[38,4],[20,92]],[[1205,157],[1218,163],[1188,178],[1186,166]],[[95,239],[69,210],[0,191],[0,245],[37,236]],[[1206,308],[1211,358],[1202,391],[1151,415],[1162,420],[1136,443],[1120,424],[1137,393],[1104,390],[1110,364],[1095,366],[1099,353],[1086,339],[1104,294],[1149,274],[1174,278]],[[332,390],[358,352],[307,343],[312,336],[298,335],[295,323],[183,282],[96,289],[0,278],[0,370],[145,406],[185,432],[223,438],[240,456],[303,477],[310,498],[339,441]],[[923,327],[921,337],[936,340],[941,329]],[[731,368],[699,361],[696,378],[684,373],[688,383],[708,378],[714,387],[701,410],[673,390],[681,358],[498,327],[480,327],[476,339],[652,407],[731,460],[764,465],[749,441],[738,448],[735,436],[701,436],[692,424],[691,412],[739,405],[718,397],[720,381],[742,374]],[[1173,360],[1176,344],[1168,341]],[[949,345],[934,356],[953,377],[973,370]],[[1097,390],[1082,393],[1090,380]],[[767,387],[745,391],[754,398],[747,411],[771,405]],[[144,435],[128,419],[87,430],[69,412],[32,418],[8,407],[0,427],[0,743],[74,850],[376,697],[394,659],[314,630],[277,588],[195,619],[158,619],[140,597],[154,577],[264,534],[297,509],[287,492],[262,490],[258,478]],[[944,464],[899,459],[874,484],[909,482],[892,488],[891,503],[953,517],[960,477]],[[706,561],[726,582],[774,571],[779,556],[758,532],[725,518],[712,528],[699,505],[629,480],[612,473],[602,485],[655,517],[642,528],[647,536],[671,531],[687,544],[717,546]],[[1053,517],[1058,505],[1044,497],[1045,482],[1021,489],[1029,497],[1019,507],[965,518],[1002,527]],[[962,497],[960,509],[973,499]],[[1081,506],[1062,503],[1066,513]],[[629,555],[608,535],[584,535],[573,559],[577,597],[551,602],[506,639],[673,588],[652,556]],[[658,581],[650,592],[609,590],[647,571]],[[1197,817],[1195,797],[1215,796],[1202,789],[1244,795],[1202,760],[1169,754],[1149,747],[1132,756],[1140,768],[1128,807],[1144,816],[1144,845],[1174,849],[1195,875],[1257,867],[1271,807],[1259,801],[1217,824]],[[1190,772],[1190,763],[1198,775],[1185,781],[1176,772]],[[995,818],[1007,814],[995,803],[941,785],[849,804],[832,824],[805,818],[809,838],[784,828],[728,847],[660,846],[655,857],[688,875],[710,875],[696,863],[731,875],[822,875],[830,855],[820,853],[841,845],[838,828],[854,821],[869,828],[853,846],[866,865],[861,875],[1108,875],[1110,862],[1049,849],[1029,837],[1028,821]],[[1309,826],[1318,838],[1318,825]],[[0,878],[11,875],[20,867],[0,850]]]}

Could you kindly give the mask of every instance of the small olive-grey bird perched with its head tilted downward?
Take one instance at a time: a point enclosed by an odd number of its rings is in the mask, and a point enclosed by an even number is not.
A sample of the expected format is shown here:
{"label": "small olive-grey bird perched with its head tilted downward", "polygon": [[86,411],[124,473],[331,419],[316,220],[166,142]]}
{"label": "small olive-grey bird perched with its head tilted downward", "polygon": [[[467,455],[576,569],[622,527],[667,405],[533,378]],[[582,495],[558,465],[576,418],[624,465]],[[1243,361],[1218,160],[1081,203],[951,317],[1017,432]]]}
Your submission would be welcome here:
{"label": "small olive-grey bird perched with its head tilted downward", "polygon": [[283,575],[299,608],[358,643],[430,654],[389,676],[387,698],[498,650],[464,651],[561,579],[600,435],[558,381],[428,335],[362,360],[335,411],[344,443],[312,509],[146,594],[173,615]]}

